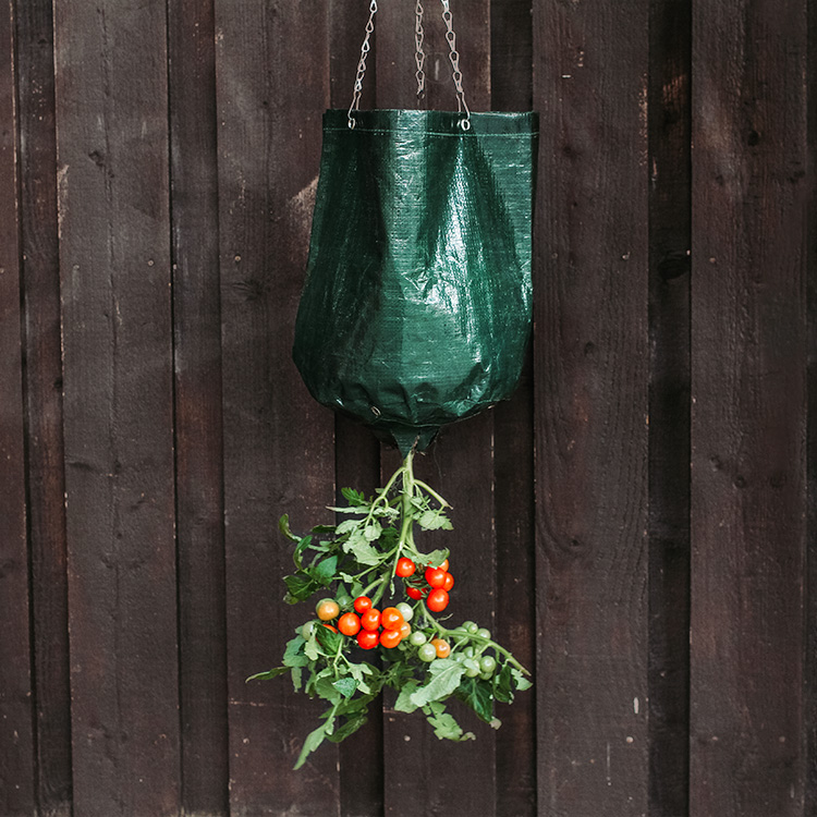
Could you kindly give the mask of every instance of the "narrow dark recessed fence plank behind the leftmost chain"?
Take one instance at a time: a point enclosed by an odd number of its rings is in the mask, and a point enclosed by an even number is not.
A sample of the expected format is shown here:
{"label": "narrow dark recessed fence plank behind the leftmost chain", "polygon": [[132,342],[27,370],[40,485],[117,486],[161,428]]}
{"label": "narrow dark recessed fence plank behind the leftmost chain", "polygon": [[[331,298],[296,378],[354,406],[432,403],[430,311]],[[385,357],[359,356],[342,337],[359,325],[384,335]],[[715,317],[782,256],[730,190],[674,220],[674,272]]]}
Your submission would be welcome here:
{"label": "narrow dark recessed fence plank behind the leftmost chain", "polygon": [[[347,108],[352,99],[357,61],[361,57],[368,4],[350,5],[331,0],[330,14],[330,106]],[[376,42],[376,39],[373,41]],[[373,106],[377,69],[369,58],[362,109]],[[345,504],[341,488],[374,495],[380,485],[380,447],[362,425],[340,415],[334,422],[336,488],[338,503]],[[340,808],[342,815],[380,815],[383,810],[382,707],[371,704],[364,727],[340,744]]]}

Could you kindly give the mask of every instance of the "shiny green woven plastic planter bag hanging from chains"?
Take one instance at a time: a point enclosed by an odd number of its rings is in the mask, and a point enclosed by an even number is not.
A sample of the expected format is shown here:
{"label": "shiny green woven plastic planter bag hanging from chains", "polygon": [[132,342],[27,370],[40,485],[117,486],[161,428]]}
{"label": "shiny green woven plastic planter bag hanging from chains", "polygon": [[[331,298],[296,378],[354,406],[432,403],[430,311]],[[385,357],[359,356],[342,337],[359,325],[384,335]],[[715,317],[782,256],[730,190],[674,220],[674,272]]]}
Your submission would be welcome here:
{"label": "shiny green woven plastic planter bag hanging from chains", "polygon": [[535,113],[324,117],[293,356],[403,454],[510,397],[531,332]]}

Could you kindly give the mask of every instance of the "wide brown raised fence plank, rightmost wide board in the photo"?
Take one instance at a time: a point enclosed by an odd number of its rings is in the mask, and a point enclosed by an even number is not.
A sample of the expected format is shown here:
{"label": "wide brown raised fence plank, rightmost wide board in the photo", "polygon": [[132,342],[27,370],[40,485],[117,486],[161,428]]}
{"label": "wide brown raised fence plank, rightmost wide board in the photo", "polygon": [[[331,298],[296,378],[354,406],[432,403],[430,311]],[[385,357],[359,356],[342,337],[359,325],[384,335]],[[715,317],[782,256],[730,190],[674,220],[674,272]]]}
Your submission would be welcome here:
{"label": "wide brown raised fence plank, rightmost wide board in the photo", "polygon": [[695,817],[804,813],[806,12],[693,9]]}

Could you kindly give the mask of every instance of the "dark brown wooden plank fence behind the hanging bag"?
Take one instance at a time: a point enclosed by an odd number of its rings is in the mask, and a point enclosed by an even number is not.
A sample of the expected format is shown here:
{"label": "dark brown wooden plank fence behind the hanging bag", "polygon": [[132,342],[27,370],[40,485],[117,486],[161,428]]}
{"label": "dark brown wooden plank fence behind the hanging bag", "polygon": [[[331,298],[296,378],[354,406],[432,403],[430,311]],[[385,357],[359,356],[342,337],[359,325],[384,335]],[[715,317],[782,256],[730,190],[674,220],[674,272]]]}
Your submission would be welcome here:
{"label": "dark brown wooden plank fence behind the hanging bag", "polygon": [[[387,700],[293,772],[318,709],[244,682],[303,618],[277,517],[394,464],[290,359],[367,0],[10,0],[2,817],[817,815],[817,5],[451,4],[472,107],[541,114],[536,328],[422,468],[535,690],[463,745]],[[366,107],[415,105],[413,8]]]}

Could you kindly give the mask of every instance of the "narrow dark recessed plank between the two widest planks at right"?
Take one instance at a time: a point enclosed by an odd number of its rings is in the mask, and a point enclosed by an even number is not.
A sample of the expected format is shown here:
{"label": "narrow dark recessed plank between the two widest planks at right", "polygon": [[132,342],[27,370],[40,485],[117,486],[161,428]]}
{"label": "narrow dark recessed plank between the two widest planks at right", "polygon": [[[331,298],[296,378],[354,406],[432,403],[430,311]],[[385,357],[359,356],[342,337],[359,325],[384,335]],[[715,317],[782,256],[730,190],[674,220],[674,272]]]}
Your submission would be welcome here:
{"label": "narrow dark recessed plank between the two widest planks at right", "polygon": [[692,2],[649,21],[649,806],[688,805]]}

